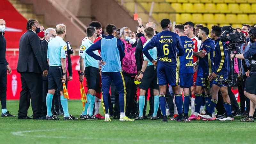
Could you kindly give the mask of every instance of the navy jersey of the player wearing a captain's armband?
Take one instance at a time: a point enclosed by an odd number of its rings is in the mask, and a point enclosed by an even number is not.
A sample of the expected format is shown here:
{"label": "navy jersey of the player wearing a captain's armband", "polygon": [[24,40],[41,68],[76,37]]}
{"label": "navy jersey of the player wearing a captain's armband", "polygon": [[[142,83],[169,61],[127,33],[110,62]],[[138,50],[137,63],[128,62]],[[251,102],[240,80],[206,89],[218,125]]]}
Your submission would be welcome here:
{"label": "navy jersey of the player wearing a captain's armband", "polygon": [[209,76],[214,71],[213,66],[213,50],[214,50],[214,43],[210,38],[206,39],[200,47],[200,51],[205,54],[204,58],[199,59],[199,66],[198,68],[202,68],[203,76]]}

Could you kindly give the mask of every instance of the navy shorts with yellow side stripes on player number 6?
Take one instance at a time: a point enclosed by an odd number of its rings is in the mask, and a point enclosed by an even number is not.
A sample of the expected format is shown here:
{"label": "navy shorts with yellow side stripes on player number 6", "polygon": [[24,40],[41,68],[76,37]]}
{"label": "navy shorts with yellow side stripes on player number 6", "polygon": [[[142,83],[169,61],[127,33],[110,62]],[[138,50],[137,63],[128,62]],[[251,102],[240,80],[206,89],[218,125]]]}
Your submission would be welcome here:
{"label": "navy shorts with yellow side stripes on player number 6", "polygon": [[171,86],[179,85],[180,76],[179,71],[173,68],[167,67],[160,61],[157,63],[157,77],[159,85],[169,84]]}

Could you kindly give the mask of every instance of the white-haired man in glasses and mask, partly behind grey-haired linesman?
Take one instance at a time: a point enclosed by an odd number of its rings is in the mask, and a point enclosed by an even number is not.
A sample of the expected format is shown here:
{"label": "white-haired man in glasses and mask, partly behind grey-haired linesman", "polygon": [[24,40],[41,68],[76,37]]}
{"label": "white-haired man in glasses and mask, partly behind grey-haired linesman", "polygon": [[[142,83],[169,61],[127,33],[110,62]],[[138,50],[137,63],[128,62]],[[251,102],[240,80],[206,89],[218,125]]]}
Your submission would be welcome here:
{"label": "white-haired man in glasses and mask, partly behind grey-haired linesman", "polygon": [[[45,30],[45,39],[42,40],[42,52],[44,55],[44,61],[46,62],[47,69],[48,69],[48,62],[47,62],[47,49],[48,49],[48,43],[52,38],[55,38],[57,36],[56,30],[54,28],[47,28]],[[43,76],[43,103],[42,103],[42,116],[47,115],[47,109],[46,109],[46,95],[48,92],[48,76]]]}

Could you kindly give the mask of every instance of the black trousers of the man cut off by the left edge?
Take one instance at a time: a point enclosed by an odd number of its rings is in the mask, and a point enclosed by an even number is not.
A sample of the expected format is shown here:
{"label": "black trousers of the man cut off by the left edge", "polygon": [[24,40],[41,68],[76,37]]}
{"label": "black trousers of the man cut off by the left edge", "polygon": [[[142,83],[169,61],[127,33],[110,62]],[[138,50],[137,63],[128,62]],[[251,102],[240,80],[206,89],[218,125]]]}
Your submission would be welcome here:
{"label": "black trousers of the man cut off by the left edge", "polygon": [[7,68],[6,65],[0,65],[0,100],[2,109],[6,108],[6,90],[7,90]]}

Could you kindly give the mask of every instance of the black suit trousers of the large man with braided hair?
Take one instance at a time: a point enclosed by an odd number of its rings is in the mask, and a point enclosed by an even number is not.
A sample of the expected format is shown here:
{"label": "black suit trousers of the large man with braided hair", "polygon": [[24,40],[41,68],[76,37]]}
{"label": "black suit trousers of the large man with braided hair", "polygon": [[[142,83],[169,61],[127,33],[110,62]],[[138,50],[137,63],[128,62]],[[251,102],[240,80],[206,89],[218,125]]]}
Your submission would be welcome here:
{"label": "black suit trousers of the large man with braided hair", "polygon": [[20,92],[20,105],[18,117],[28,115],[28,108],[30,106],[33,111],[33,118],[42,115],[42,100],[43,100],[43,80],[42,75],[30,72],[21,72],[21,92]]}

